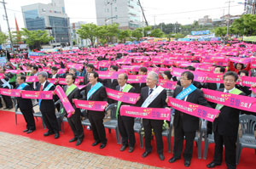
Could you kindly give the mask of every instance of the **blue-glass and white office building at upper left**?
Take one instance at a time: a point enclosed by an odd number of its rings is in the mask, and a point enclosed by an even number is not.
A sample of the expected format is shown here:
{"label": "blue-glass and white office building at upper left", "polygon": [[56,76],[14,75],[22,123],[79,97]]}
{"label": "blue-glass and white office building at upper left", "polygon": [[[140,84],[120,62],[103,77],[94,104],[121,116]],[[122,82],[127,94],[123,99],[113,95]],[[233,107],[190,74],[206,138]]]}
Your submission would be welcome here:
{"label": "blue-glass and white office building at upper left", "polygon": [[22,6],[26,29],[29,31],[48,30],[55,40],[54,46],[66,46],[70,42],[69,19],[65,13],[64,0],[52,0],[52,3],[35,3]]}

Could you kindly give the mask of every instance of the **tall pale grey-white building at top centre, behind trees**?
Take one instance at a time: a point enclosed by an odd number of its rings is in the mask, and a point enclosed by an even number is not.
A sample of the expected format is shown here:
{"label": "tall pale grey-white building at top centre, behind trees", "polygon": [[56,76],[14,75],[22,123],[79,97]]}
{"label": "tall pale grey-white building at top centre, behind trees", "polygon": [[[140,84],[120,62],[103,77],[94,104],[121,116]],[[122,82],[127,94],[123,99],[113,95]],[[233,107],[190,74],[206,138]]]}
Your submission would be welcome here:
{"label": "tall pale grey-white building at top centre, behind trees", "polygon": [[118,23],[121,29],[141,27],[141,8],[137,0],[96,0],[97,25]]}

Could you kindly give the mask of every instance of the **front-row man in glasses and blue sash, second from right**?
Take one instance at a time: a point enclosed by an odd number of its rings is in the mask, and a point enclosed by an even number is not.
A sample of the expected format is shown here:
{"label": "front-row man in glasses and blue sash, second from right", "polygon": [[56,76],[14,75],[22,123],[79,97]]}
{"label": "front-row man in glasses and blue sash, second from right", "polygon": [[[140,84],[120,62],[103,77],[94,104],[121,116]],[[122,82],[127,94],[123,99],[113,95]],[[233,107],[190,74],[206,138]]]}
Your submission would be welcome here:
{"label": "front-row man in glasses and blue sash, second from right", "polygon": [[[189,87],[194,80],[194,75],[190,71],[184,71],[181,75],[181,86],[176,87],[174,90],[173,98],[183,91],[183,89]],[[204,98],[200,89],[196,88],[192,93],[189,93],[183,98],[184,101],[201,104],[207,107],[211,107]],[[193,154],[193,143],[195,139],[195,132],[199,129],[199,118],[193,115],[185,114],[181,111],[175,110],[174,115],[174,149],[173,157],[169,162],[175,162],[181,158],[183,151],[183,138],[186,139],[186,146],[183,152],[183,158],[185,160],[184,166],[190,166],[190,161]]]}

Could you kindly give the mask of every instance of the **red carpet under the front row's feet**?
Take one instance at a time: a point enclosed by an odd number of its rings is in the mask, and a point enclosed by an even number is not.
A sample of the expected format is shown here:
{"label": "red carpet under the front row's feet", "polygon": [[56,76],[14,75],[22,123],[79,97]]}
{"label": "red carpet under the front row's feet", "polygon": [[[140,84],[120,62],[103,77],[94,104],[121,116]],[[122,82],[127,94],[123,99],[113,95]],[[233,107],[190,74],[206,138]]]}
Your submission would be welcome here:
{"label": "red carpet under the front row's feet", "polygon": [[[49,144],[56,144],[61,145],[73,149],[80,149],[83,151],[95,153],[98,155],[106,155],[106,156],[113,156],[115,158],[119,158],[121,160],[125,161],[134,161],[138,163],[147,164],[150,166],[158,166],[158,167],[165,167],[165,168],[185,168],[183,165],[183,158],[173,164],[170,164],[168,160],[172,157],[172,154],[168,153],[167,151],[167,142],[166,137],[164,137],[164,155],[166,157],[165,161],[160,161],[157,152],[155,143],[153,142],[153,152],[148,155],[146,158],[142,158],[142,154],[144,149],[141,149],[139,147],[139,139],[138,135],[137,137],[137,144],[136,148],[133,153],[128,153],[128,149],[125,150],[125,152],[120,152],[120,145],[116,144],[116,138],[115,138],[115,132],[112,131],[111,133],[107,133],[108,138],[108,144],[105,149],[99,149],[99,146],[92,147],[90,144],[93,143],[93,137],[91,131],[88,131],[87,129],[84,129],[84,142],[83,144],[79,146],[75,146],[75,143],[68,143],[68,140],[70,138],[73,138],[73,132],[71,131],[69,125],[67,123],[64,123],[64,134],[61,133],[61,137],[59,139],[55,139],[54,136],[44,137],[43,133],[47,132],[47,130],[44,130],[41,119],[38,118],[38,121],[36,121],[37,130],[35,132],[32,132],[31,134],[26,134],[22,132],[26,128],[26,122],[24,121],[24,118],[22,115],[18,115],[18,125],[15,125],[15,113],[13,112],[7,112],[7,111],[0,111],[0,132],[8,132],[11,134],[17,134],[20,136],[25,136],[27,138],[32,138],[35,140],[44,141]],[[173,142],[172,142],[173,143]],[[194,155],[193,159],[191,161],[191,166],[189,168],[207,168],[206,165],[212,161],[213,156],[213,145],[210,144],[209,150],[208,150],[208,158],[207,160],[198,160],[197,159],[197,149],[194,147]],[[254,154],[254,149],[242,149],[241,152],[241,160],[239,166],[237,168],[256,168],[256,155]],[[226,168],[224,162],[222,166],[219,166],[218,168]]]}

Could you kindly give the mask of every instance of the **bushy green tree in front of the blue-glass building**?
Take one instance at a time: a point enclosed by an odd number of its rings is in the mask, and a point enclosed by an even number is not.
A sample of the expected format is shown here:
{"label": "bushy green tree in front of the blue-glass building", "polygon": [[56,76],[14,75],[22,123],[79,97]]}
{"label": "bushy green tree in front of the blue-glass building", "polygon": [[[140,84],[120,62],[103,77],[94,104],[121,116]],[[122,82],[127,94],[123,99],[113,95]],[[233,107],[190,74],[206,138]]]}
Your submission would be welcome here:
{"label": "bushy green tree in front of the blue-glass building", "polygon": [[22,28],[21,35],[30,49],[40,49],[43,44],[54,40],[54,37],[49,37],[47,31],[41,30],[28,31],[26,28]]}

